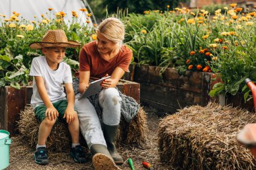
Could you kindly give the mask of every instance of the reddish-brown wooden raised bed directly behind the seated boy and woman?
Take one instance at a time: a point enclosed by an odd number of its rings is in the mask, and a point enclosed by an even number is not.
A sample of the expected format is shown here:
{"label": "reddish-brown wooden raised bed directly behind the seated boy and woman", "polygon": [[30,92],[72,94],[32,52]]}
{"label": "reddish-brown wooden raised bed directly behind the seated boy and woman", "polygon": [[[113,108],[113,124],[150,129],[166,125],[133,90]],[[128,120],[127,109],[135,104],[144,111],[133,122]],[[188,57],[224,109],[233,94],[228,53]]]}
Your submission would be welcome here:
{"label": "reddish-brown wooden raised bed directly behind the seated boy and woman", "polygon": [[[121,80],[117,88],[139,103],[139,83]],[[32,86],[21,89],[10,86],[0,88],[0,129],[8,130],[11,135],[18,133],[16,121],[20,118],[20,111],[30,103],[32,92]]]}

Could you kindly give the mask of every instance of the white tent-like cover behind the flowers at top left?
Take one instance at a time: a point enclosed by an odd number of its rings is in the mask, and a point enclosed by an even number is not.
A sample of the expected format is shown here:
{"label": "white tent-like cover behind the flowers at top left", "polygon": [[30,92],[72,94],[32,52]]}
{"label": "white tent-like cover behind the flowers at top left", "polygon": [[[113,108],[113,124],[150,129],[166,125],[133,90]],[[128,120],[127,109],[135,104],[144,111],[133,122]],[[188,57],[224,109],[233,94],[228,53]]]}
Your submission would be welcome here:
{"label": "white tent-like cover behind the flowers at top left", "polygon": [[32,21],[35,15],[40,17],[41,14],[49,13],[49,8],[53,8],[51,13],[59,11],[67,13],[65,22],[71,20],[71,11],[76,11],[79,16],[84,15],[80,18],[82,22],[86,22],[86,14],[79,11],[81,8],[86,8],[89,13],[92,13],[93,22],[96,24],[92,9],[86,0],[0,0],[0,14],[6,15],[7,18],[13,15],[12,12],[15,11],[25,19]]}

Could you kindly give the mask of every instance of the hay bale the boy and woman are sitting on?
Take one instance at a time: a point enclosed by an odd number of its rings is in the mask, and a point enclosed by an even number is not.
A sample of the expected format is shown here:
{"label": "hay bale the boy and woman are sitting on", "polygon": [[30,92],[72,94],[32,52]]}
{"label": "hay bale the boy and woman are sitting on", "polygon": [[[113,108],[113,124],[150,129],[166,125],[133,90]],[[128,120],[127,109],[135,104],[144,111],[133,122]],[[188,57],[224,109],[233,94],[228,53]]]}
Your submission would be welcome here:
{"label": "hay bale the boy and woman are sitting on", "polygon": [[[39,126],[40,121],[34,116],[32,107],[27,105],[24,111],[20,113],[18,130],[22,138],[26,139],[26,142],[31,147],[36,147]],[[146,144],[147,131],[146,113],[140,108],[138,114],[131,120],[130,124],[121,119],[117,143],[144,146]],[[82,145],[86,145],[82,136],[80,136],[80,142]],[[53,126],[51,134],[46,140],[46,145],[49,151],[67,151],[70,148],[71,136],[65,122],[60,121]]]}

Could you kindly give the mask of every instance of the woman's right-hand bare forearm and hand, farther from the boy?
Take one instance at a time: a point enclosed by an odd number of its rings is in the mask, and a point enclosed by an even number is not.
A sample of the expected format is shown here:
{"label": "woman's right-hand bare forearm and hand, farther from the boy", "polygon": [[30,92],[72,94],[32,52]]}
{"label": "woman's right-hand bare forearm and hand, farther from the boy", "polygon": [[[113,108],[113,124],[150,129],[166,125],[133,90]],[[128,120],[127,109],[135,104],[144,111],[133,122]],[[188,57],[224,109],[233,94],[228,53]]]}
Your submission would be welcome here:
{"label": "woman's right-hand bare forearm and hand, farther from the boy", "polygon": [[[110,79],[106,79],[103,81],[103,83],[101,84],[101,86],[105,89],[110,88],[110,87],[116,87],[117,83],[119,83],[119,80],[121,79],[121,77],[123,77],[123,75],[125,74],[125,71],[123,71],[123,69],[116,67],[115,70],[113,71]],[[108,76],[108,75],[106,75]]]}

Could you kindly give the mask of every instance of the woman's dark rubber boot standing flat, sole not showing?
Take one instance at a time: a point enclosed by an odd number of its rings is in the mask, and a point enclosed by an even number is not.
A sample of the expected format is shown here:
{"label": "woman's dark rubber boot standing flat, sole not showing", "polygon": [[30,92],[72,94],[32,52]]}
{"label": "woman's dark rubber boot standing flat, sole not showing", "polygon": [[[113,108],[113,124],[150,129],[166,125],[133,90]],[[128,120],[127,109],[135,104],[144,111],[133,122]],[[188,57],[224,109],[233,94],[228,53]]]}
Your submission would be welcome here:
{"label": "woman's dark rubber boot standing flat, sole not showing", "polygon": [[117,148],[115,146],[117,142],[117,134],[119,130],[119,125],[116,126],[109,126],[106,124],[103,124],[103,134],[104,138],[106,140],[106,145],[108,146],[108,151],[113,157],[115,163],[123,163],[123,158],[117,153]]}

